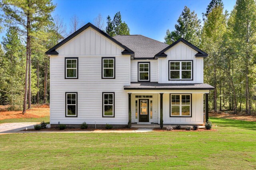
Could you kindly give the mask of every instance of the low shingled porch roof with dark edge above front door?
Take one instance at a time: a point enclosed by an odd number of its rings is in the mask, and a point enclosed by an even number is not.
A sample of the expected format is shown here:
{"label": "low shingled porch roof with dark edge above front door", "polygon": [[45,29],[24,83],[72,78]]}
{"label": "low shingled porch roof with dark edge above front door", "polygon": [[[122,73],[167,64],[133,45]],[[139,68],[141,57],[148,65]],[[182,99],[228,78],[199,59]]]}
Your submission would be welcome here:
{"label": "low shingled porch roof with dark edge above front door", "polygon": [[205,83],[158,83],[158,82],[131,82],[124,86],[124,90],[213,90]]}

